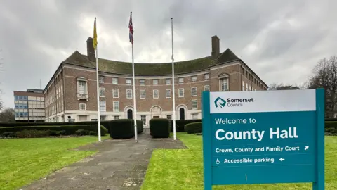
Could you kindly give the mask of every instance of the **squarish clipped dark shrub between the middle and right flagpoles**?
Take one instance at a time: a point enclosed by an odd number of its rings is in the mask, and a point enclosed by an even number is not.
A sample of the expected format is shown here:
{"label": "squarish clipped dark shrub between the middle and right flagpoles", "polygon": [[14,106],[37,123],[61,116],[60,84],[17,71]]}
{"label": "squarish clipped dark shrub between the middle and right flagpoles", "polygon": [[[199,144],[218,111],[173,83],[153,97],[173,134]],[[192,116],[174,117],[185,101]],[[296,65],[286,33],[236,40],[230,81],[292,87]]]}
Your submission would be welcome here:
{"label": "squarish clipped dark shrub between the middle and right flagpoles", "polygon": [[154,138],[167,138],[170,136],[171,122],[168,119],[151,119],[150,134]]}

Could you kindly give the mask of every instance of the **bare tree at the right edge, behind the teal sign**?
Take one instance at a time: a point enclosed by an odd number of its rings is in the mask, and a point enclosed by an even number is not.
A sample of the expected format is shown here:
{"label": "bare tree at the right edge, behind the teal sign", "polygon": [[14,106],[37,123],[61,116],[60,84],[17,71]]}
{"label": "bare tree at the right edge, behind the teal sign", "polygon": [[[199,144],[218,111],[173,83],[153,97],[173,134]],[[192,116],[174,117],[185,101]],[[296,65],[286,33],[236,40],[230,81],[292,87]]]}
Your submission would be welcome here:
{"label": "bare tree at the right edge, behind the teal sign", "polygon": [[337,57],[319,60],[308,80],[309,89],[324,88],[325,116],[335,118],[337,115]]}

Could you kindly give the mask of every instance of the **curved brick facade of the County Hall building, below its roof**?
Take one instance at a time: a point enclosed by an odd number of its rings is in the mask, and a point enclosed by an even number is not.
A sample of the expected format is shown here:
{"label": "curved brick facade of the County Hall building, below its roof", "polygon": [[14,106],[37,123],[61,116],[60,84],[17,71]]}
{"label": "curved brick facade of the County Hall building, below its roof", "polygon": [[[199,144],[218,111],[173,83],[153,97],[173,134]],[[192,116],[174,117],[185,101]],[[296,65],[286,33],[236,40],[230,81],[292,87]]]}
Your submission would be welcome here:
{"label": "curved brick facade of the County Hall building, below its roof", "polygon": [[[213,40],[217,39],[212,38],[212,42]],[[212,52],[213,56],[219,54],[217,50],[212,50]],[[209,77],[205,79],[205,75]],[[100,115],[105,116],[105,120],[117,117],[128,118],[128,110],[133,111],[133,99],[126,97],[126,91],[132,90],[133,85],[127,84],[127,80],[132,82],[132,75],[100,72],[100,77],[104,77],[103,82],[99,84],[100,88],[105,89],[105,96],[100,97],[100,101],[105,101],[105,110],[101,110]],[[171,75],[136,75],[136,117],[138,120],[142,118],[140,115],[143,115],[143,119],[146,118],[146,121],[154,116],[166,118],[169,117],[168,115],[172,115],[171,77]],[[183,77],[183,83],[179,82],[180,77]],[[192,81],[192,78],[195,77],[197,80]],[[112,84],[113,78],[117,78],[118,84]],[[171,84],[166,84],[166,79],[169,79]],[[140,84],[143,80],[145,84]],[[153,80],[158,80],[158,84],[153,84]],[[223,85],[220,84],[221,82]],[[210,91],[245,91],[246,89],[242,89],[243,82],[244,85],[248,85],[249,90],[267,89],[267,85],[241,60],[210,65],[208,69],[175,75],[176,119],[180,119],[180,117],[185,119],[202,118],[201,94],[206,85],[209,85]],[[79,91],[79,83],[85,84],[83,91]],[[75,121],[97,119],[96,84],[95,68],[61,63],[44,90],[46,121],[67,121],[68,118]],[[192,96],[192,88],[197,89],[197,96]],[[62,92],[59,92],[61,89]],[[113,96],[113,89],[118,89],[118,98]],[[166,97],[166,89],[171,90],[169,98]],[[183,97],[179,96],[179,89],[184,89]],[[140,98],[140,90],[145,90],[145,99]],[[153,97],[154,90],[159,91],[157,99]],[[197,108],[192,108],[192,100],[197,101]],[[114,110],[114,102],[118,102],[119,110]],[[80,110],[80,103],[82,103],[83,110]],[[181,108],[184,113],[180,113]]]}

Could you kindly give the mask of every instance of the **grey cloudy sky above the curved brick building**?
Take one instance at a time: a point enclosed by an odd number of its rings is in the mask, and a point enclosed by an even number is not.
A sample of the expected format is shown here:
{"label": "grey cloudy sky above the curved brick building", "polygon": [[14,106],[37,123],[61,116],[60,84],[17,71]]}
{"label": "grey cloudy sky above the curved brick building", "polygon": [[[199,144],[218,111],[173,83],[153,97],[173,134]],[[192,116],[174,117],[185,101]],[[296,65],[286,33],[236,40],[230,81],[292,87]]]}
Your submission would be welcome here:
{"label": "grey cloudy sky above the curved brick building", "polygon": [[209,56],[211,36],[230,48],[267,84],[301,84],[319,59],[336,56],[335,0],[117,1],[0,0],[0,89],[13,107],[13,90],[44,89],[75,50],[86,54],[97,17],[101,58],[131,61],[128,18],[133,11],[136,62]]}

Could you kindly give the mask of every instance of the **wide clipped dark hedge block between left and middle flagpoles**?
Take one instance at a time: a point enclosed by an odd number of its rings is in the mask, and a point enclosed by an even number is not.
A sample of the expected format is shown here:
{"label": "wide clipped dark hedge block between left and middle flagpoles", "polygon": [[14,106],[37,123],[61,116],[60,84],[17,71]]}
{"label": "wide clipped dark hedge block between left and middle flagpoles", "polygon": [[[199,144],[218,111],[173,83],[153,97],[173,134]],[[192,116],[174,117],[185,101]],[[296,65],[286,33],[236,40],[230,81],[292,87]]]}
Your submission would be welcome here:
{"label": "wide clipped dark hedge block between left and middle flagpoles", "polygon": [[[143,121],[136,120],[137,122],[137,134],[143,132]],[[110,137],[112,139],[129,139],[135,136],[134,120],[121,119],[111,120],[109,122]]]}

